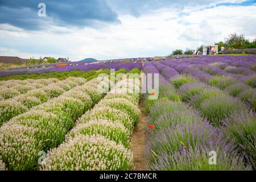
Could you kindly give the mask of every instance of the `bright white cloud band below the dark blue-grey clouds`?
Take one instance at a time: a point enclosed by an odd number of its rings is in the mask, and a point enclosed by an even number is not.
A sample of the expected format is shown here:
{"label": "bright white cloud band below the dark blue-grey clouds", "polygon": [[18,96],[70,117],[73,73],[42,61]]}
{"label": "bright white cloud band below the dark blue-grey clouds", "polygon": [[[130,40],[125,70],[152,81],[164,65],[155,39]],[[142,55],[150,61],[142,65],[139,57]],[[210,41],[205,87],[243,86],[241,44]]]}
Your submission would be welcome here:
{"label": "bright white cloud band below the dark blue-grey clouds", "polygon": [[[11,48],[10,56],[69,56],[115,59],[122,57],[165,56],[176,48],[196,48],[212,44],[238,32],[255,38],[255,6],[217,7],[201,11],[163,10],[162,14],[139,18],[119,18],[121,24],[98,23],[94,28],[46,27],[44,31],[0,28],[0,47]],[[99,28],[100,27],[100,28]],[[2,54],[2,53],[1,53]],[[6,52],[5,52],[6,55]]]}

